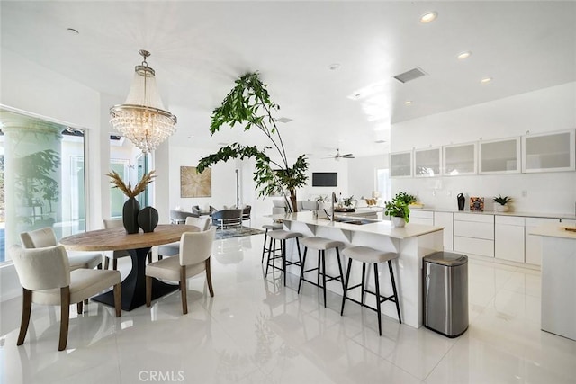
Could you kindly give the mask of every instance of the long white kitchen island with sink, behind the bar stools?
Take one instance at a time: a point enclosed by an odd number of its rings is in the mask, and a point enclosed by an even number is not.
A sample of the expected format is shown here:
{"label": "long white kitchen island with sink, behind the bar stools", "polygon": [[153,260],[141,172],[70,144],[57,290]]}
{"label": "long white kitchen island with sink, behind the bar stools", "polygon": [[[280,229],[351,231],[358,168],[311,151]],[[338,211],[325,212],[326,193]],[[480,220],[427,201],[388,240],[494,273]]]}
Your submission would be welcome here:
{"label": "long white kitchen island with sink, behind the bar stools", "polygon": [[[370,246],[381,251],[397,253],[399,258],[394,262],[396,269],[394,274],[400,296],[402,321],[415,328],[422,326],[422,258],[444,249],[442,227],[407,224],[404,228],[395,228],[390,221],[355,219],[349,216],[342,218],[344,222],[332,222],[329,219],[314,219],[311,211],[273,215],[273,219],[281,220],[286,229],[301,232],[304,237],[327,237],[344,242],[345,247]],[[350,222],[350,219],[353,219],[354,223]],[[289,248],[287,254],[289,260],[298,258],[295,248]],[[312,262],[315,259],[316,257],[308,258],[306,269],[314,266]],[[361,271],[359,265],[353,267],[350,285],[360,282]],[[382,271],[387,271],[387,268],[383,268]],[[292,265],[288,268],[288,272],[300,275],[300,268]],[[332,253],[326,257],[326,272],[329,275],[338,274],[338,262]],[[371,272],[372,269],[369,269],[369,273]],[[374,281],[374,278],[368,277],[366,281]],[[381,292],[386,296],[391,295],[392,284],[387,272],[383,272],[380,281]],[[374,283],[369,282],[369,289],[374,290],[371,284]],[[327,289],[342,295],[342,286],[338,281],[331,281]],[[354,299],[360,299],[359,290],[351,293],[356,293],[356,297],[351,294]],[[374,298],[371,296],[366,295],[365,299],[368,304],[374,306]],[[393,305],[384,304],[382,310],[383,314],[397,318],[396,308]]]}

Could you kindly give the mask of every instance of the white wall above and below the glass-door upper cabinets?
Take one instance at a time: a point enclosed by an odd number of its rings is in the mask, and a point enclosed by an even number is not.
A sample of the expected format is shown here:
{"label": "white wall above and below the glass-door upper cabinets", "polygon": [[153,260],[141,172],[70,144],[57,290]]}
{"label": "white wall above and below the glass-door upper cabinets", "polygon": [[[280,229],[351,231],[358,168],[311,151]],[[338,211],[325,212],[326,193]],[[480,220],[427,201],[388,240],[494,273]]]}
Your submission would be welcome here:
{"label": "white wall above and below the glass-door upper cabinets", "polygon": [[[392,152],[576,128],[576,83],[392,125]],[[457,208],[456,194],[512,196],[517,211],[574,213],[576,172],[392,179],[392,194],[418,194],[429,207]],[[522,197],[527,191],[527,197]]]}

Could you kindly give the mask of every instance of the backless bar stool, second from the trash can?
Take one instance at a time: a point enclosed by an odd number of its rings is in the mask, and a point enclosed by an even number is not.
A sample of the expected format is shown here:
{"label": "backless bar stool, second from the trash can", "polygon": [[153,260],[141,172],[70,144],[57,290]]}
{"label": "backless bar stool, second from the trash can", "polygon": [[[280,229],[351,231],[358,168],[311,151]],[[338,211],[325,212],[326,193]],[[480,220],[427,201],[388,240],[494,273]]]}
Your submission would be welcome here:
{"label": "backless bar stool, second from the trash can", "polygon": [[[324,308],[326,308],[326,283],[329,281],[340,281],[342,284],[342,289],[344,289],[344,273],[342,272],[342,263],[340,262],[340,251],[339,247],[344,246],[341,241],[331,240],[324,237],[306,237],[302,239],[302,245],[304,246],[304,257],[302,258],[302,268],[300,272],[300,282],[298,283],[298,293],[300,293],[300,287],[302,286],[302,281],[310,282],[321,288],[324,292]],[[318,250],[318,266],[309,270],[304,270],[306,265],[306,254],[308,253],[308,248]],[[336,257],[338,259],[338,269],[340,270],[339,276],[329,276],[326,274],[326,251],[329,249],[336,249]],[[310,281],[304,279],[304,273],[318,271],[317,281]],[[320,275],[322,275],[322,284],[320,285]],[[328,278],[328,279],[327,279]]]}

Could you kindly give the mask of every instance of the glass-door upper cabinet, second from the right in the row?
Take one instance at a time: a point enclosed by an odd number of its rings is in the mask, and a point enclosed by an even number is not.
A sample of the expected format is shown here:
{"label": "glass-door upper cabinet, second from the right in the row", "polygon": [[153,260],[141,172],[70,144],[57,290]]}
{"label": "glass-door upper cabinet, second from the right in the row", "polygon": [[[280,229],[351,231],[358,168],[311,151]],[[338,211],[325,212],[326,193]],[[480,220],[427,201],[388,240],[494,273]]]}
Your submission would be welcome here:
{"label": "glass-door upper cabinet, second from the right in the row", "polygon": [[480,174],[518,174],[520,138],[480,142]]}

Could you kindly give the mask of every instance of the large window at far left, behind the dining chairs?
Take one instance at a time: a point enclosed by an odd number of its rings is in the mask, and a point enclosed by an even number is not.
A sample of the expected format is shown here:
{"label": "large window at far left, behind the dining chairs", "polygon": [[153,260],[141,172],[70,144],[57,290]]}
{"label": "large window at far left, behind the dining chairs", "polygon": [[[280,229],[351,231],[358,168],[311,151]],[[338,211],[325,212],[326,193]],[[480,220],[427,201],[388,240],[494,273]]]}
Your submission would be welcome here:
{"label": "large window at far left, behind the dining chairs", "polygon": [[20,233],[85,230],[83,129],[0,110],[0,262]]}

